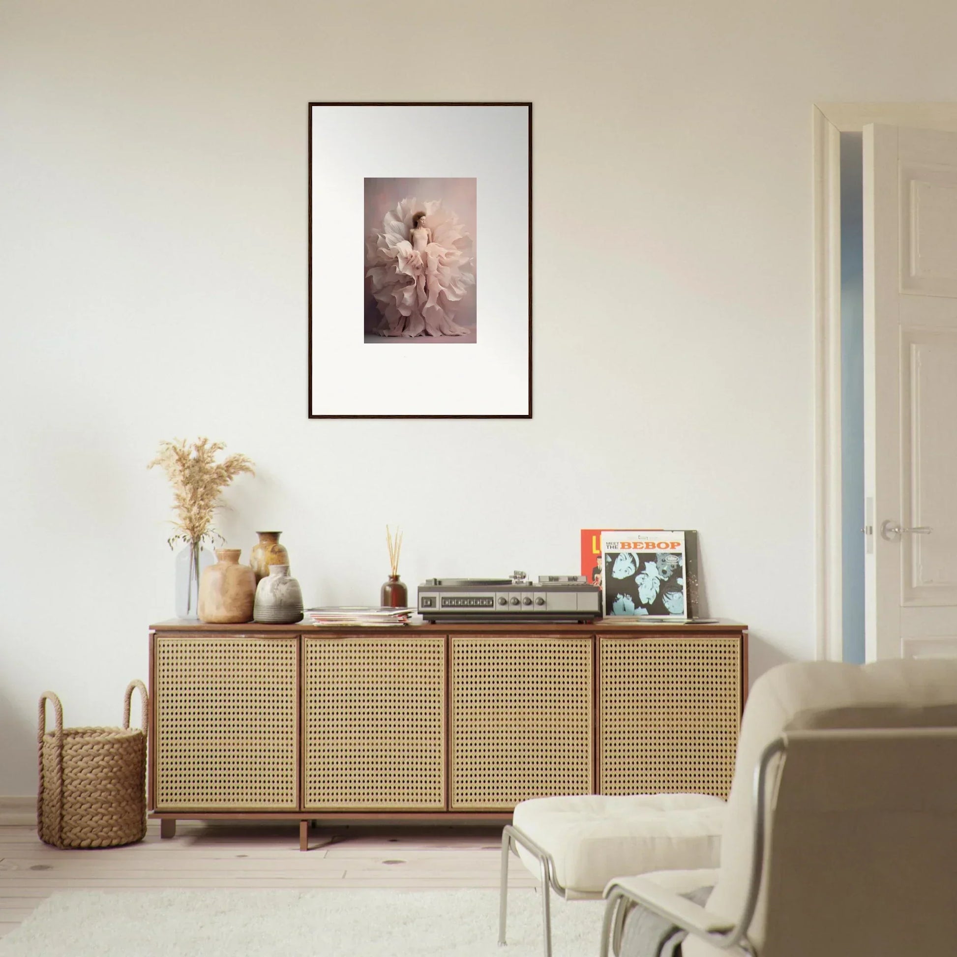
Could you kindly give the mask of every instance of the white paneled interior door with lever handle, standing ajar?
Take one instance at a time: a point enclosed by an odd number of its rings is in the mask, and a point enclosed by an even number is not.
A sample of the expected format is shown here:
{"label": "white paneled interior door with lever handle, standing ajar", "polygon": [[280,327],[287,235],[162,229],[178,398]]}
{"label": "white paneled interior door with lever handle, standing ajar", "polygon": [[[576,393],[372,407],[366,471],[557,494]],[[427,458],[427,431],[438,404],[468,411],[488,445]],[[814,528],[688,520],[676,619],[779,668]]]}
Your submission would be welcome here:
{"label": "white paneled interior door with lever handle, standing ajar", "polygon": [[864,127],[868,660],[957,654],[957,133]]}

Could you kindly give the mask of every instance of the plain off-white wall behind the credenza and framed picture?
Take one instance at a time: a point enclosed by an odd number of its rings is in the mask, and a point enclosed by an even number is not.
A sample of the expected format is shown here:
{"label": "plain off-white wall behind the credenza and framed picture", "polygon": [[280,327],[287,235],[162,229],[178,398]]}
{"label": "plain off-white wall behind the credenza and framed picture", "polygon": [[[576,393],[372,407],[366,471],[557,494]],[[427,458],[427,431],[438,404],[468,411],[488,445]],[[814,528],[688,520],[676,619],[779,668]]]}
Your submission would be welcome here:
{"label": "plain off-white wall behind the credenza and framed picture", "polygon": [[[729,7],[733,12],[729,12]],[[945,3],[4,0],[0,794],[120,717],[172,607],[159,439],[256,459],[311,602],[701,530],[754,673],[812,657],[815,100],[953,96]],[[306,102],[533,100],[535,418],[306,419]]]}

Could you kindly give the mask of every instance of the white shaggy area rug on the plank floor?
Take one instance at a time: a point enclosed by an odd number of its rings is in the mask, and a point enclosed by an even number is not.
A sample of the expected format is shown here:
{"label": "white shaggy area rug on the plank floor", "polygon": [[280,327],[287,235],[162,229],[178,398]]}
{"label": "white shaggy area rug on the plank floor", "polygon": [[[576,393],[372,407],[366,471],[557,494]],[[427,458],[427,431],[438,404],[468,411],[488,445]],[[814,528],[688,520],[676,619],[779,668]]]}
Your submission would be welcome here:
{"label": "white shaggy area rug on the plank floor", "polygon": [[[552,895],[554,957],[596,957],[601,901]],[[541,957],[534,891],[202,890],[55,894],[0,957]]]}

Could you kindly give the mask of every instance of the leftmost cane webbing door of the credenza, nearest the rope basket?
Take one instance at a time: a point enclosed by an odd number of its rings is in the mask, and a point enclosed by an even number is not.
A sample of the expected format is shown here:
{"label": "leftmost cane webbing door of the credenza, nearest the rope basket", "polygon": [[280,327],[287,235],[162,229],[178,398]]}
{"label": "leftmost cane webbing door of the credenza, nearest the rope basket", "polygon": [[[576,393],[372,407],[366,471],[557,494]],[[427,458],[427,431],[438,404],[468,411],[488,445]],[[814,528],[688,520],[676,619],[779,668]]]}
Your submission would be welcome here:
{"label": "leftmost cane webbing door of the credenza, nearest the rope basket", "polygon": [[295,810],[296,637],[159,634],[157,811]]}

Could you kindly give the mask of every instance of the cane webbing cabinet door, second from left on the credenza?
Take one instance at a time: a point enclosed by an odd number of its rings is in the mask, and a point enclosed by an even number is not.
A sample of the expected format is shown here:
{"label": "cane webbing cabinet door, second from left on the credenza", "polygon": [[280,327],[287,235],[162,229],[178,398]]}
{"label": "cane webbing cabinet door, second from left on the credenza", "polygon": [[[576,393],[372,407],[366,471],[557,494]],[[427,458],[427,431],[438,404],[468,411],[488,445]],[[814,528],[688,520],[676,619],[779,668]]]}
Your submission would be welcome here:
{"label": "cane webbing cabinet door, second from left on the credenza", "polygon": [[303,807],[445,808],[445,635],[303,637]]}

